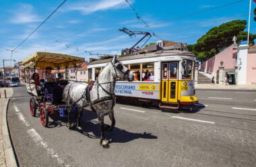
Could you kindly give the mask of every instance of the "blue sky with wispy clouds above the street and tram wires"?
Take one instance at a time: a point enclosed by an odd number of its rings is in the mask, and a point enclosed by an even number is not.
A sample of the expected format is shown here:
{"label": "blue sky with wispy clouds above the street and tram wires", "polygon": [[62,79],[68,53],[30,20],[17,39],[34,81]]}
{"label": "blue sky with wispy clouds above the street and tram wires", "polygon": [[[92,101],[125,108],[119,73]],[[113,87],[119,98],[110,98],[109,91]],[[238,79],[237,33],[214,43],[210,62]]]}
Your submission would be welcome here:
{"label": "blue sky with wispy clouds above the street and tram wires", "polygon": [[[0,66],[3,59],[11,59],[10,50],[19,46],[62,2],[0,0]],[[95,54],[120,54],[143,37],[131,38],[119,31],[123,27],[156,34],[148,43],[170,40],[195,44],[212,27],[235,19],[249,20],[249,0],[129,0],[129,3],[67,0],[13,52],[12,59],[22,61],[34,52],[73,54],[86,60],[98,58]],[[256,34],[255,7],[256,3],[252,2],[250,32],[253,34]],[[5,61],[5,66],[9,65],[13,62]]]}

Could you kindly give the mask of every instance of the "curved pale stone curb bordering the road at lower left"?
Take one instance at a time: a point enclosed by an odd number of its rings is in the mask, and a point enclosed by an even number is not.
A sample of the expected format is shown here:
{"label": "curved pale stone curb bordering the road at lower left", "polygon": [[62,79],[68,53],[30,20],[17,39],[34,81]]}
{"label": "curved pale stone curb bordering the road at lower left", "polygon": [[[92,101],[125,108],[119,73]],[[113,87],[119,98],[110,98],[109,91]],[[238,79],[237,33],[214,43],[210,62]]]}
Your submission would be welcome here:
{"label": "curved pale stone curb bordering the road at lower left", "polygon": [[3,110],[3,117],[2,117],[2,123],[3,123],[3,146],[5,150],[5,161],[7,167],[15,167],[18,166],[15,158],[15,154],[13,152],[13,147],[11,144],[11,137],[9,135],[8,130],[8,124],[7,124],[7,110],[9,105],[10,99],[8,99],[7,105],[5,106],[5,109]]}

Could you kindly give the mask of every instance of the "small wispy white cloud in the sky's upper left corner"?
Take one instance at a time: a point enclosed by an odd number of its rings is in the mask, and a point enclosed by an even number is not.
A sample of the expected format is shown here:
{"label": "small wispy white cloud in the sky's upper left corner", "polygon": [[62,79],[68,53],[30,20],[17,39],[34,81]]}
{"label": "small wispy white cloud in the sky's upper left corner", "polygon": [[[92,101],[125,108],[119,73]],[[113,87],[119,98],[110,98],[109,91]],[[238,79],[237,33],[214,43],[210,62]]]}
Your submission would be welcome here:
{"label": "small wispy white cloud in the sky's upper left corner", "polygon": [[22,4],[18,9],[13,11],[13,18],[10,19],[11,23],[33,23],[42,21],[38,15],[35,14],[34,7],[29,4]]}

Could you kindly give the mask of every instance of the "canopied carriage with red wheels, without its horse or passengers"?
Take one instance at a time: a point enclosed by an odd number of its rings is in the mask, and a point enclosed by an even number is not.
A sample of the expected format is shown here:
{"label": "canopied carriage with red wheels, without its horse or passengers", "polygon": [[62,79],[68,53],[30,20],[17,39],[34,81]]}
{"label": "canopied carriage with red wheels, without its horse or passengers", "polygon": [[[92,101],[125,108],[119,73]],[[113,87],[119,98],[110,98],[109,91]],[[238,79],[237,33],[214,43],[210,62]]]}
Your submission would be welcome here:
{"label": "canopied carriage with red wheels, without its horse or passengers", "polygon": [[[22,61],[22,64],[24,65],[25,70],[28,71],[28,76],[30,76],[31,69],[34,69],[34,74],[39,76],[38,73],[42,74],[42,70],[46,67],[67,69],[70,66],[77,66],[77,64],[81,64],[82,62],[84,62],[84,58],[78,56],[50,52],[36,52],[29,58]],[[36,73],[36,69],[40,72]],[[63,107],[66,108],[71,105],[67,105],[65,103],[53,103],[53,101],[55,101],[54,97],[62,96],[61,91],[59,92],[60,95],[53,96],[53,89],[58,87],[57,82],[44,83],[43,79],[40,81],[40,85],[30,82],[30,78],[28,78],[28,82],[26,82],[28,93],[33,95],[33,97],[30,98],[30,113],[35,117],[36,112],[38,111],[42,125],[44,127],[48,127],[49,115],[59,113],[59,111],[63,111]]]}

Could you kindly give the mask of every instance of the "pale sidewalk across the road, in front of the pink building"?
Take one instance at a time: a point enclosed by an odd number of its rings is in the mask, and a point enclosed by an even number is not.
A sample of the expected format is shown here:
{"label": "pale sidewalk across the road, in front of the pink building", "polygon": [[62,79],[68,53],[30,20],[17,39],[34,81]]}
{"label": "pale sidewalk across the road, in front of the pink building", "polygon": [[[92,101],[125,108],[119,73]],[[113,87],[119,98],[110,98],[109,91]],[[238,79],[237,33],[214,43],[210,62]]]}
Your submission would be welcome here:
{"label": "pale sidewalk across the road, in front of the pink building", "polygon": [[234,89],[234,90],[254,90],[256,91],[256,85],[212,85],[212,84],[195,84],[195,89]]}

